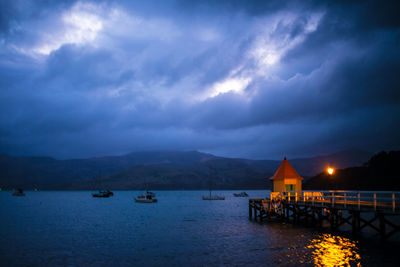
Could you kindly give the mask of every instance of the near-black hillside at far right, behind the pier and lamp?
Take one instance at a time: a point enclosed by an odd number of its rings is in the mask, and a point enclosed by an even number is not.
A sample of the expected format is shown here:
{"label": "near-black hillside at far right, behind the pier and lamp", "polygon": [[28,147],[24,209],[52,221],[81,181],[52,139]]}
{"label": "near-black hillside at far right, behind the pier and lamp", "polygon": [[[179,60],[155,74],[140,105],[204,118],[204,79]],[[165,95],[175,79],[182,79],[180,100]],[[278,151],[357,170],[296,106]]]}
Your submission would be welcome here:
{"label": "near-black hillside at far right, behind the pier and lamp", "polygon": [[400,151],[380,152],[361,167],[320,173],[303,185],[308,190],[400,190]]}

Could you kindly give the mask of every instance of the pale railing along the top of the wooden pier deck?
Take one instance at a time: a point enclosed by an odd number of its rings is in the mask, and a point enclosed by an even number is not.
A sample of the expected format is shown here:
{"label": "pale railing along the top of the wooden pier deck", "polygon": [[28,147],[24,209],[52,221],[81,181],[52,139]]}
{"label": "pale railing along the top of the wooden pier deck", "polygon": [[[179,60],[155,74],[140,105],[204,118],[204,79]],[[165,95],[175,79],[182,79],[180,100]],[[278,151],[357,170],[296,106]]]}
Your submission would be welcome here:
{"label": "pale railing along the top of the wooden pier deck", "polygon": [[400,192],[390,191],[284,191],[272,192],[271,200],[318,207],[400,212]]}

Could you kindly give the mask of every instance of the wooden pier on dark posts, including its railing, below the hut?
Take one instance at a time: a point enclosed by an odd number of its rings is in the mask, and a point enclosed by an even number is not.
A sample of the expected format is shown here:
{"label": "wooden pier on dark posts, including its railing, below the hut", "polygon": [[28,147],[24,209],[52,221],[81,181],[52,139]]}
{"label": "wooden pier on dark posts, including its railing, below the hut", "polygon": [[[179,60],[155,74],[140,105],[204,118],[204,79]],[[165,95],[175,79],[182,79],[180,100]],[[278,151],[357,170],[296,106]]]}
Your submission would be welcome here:
{"label": "wooden pier on dark posts, including its railing, below the hut", "polygon": [[[349,225],[354,234],[369,227],[382,239],[400,231],[400,192],[298,191],[273,192],[269,199],[249,199],[249,219],[283,220],[312,227],[338,229]],[[400,217],[397,217],[397,223]]]}

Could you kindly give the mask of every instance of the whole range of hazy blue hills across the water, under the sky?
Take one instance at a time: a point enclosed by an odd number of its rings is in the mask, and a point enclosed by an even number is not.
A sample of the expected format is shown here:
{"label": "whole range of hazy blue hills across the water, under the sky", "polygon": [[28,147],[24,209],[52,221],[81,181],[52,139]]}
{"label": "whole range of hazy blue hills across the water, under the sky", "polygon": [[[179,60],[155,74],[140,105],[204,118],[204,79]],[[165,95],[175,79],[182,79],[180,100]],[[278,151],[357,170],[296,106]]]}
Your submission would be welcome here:
{"label": "whole range of hazy blue hills across the water, under the sky", "polygon": [[[357,166],[367,153],[345,151],[289,161],[303,175],[315,175],[328,164]],[[50,157],[0,155],[0,187],[11,189],[94,189],[99,174],[111,189],[216,189],[270,186],[280,160],[248,160],[217,157],[197,151],[148,151],[122,156],[57,160]]]}

